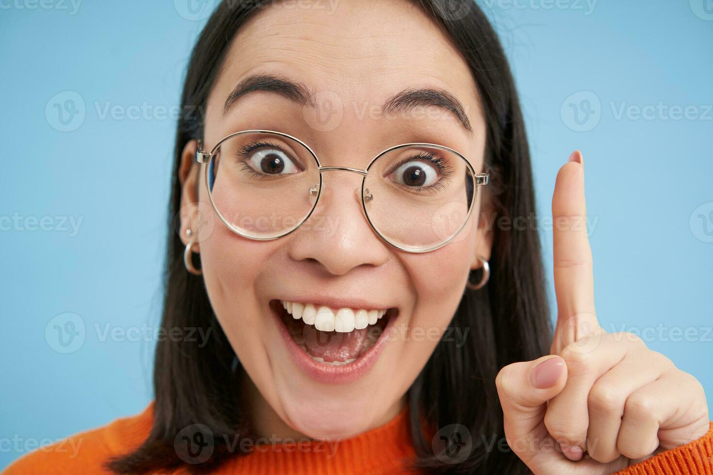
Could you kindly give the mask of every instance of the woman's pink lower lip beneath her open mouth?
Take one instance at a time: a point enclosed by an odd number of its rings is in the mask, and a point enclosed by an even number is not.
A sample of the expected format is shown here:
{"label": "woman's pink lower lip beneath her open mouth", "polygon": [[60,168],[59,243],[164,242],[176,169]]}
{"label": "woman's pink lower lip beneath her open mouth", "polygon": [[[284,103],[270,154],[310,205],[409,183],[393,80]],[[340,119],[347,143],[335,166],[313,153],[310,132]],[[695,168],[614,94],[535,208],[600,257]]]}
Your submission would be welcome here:
{"label": "woman's pink lower lip beneath her open mouth", "polygon": [[356,361],[348,365],[331,366],[323,365],[322,363],[312,360],[312,358],[294,342],[292,335],[287,331],[287,327],[282,323],[280,315],[277,315],[273,308],[270,308],[270,313],[272,313],[273,318],[275,318],[279,334],[282,335],[282,340],[284,340],[284,344],[287,346],[287,353],[292,357],[294,364],[313,380],[333,385],[357,380],[374,367],[376,360],[379,358],[379,354],[381,354],[381,350],[384,349],[384,345],[386,344],[384,335],[391,325],[394,324],[394,320],[399,316],[391,315],[391,317],[389,317],[389,323],[381,332],[381,335],[379,335],[379,340],[376,340],[376,343],[374,343],[369,350],[366,350],[363,355],[359,356]]}

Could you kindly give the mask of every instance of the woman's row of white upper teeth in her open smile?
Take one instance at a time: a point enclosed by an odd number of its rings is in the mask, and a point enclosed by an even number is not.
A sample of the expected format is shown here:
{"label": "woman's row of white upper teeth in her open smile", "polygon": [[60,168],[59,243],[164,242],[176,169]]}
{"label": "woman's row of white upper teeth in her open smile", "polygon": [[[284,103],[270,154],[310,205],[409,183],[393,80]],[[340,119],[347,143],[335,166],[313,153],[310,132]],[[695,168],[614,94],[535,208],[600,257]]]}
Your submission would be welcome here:
{"label": "woman's row of white upper teeth in her open smile", "polygon": [[374,325],[384,316],[386,310],[366,310],[364,308],[331,308],[315,306],[312,303],[280,301],[287,313],[295,320],[302,318],[307,325],[322,331],[348,333],[354,328],[361,330],[367,325]]}

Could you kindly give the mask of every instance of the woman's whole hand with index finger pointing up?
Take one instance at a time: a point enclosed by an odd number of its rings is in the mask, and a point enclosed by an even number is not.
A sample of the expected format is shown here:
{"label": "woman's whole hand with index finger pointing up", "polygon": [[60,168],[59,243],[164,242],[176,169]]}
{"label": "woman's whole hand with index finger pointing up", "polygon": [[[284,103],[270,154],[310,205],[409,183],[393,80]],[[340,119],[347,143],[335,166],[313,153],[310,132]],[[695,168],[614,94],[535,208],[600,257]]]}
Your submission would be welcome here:
{"label": "woman's whole hand with index finger pointing up", "polygon": [[611,474],[699,439],[709,429],[700,383],[636,335],[606,333],[597,321],[580,152],[560,169],[552,210],[550,355],[503,367],[496,379],[511,449],[535,474]]}

